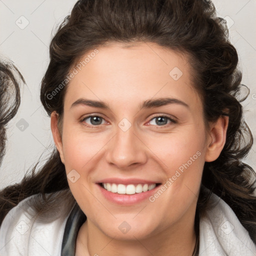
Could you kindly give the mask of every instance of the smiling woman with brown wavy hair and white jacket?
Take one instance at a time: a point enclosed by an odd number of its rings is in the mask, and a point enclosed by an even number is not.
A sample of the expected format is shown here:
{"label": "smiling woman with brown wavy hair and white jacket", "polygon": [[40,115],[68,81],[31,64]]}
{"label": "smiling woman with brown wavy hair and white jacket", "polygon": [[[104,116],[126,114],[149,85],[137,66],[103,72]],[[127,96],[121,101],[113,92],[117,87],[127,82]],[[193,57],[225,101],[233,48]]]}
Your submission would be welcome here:
{"label": "smiling woman with brown wavy hair and white jacket", "polygon": [[222,21],[206,0],[76,2],[41,83],[57,150],[1,192],[1,255],[256,253]]}

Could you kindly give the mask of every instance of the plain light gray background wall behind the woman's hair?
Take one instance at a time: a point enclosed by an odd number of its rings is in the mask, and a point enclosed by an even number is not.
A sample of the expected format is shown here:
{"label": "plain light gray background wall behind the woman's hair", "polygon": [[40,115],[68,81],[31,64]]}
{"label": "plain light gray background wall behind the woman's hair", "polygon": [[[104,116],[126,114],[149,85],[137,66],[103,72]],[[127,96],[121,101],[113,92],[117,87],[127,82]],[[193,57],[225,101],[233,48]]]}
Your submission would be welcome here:
{"label": "plain light gray background wall behind the woman's hair", "polygon": [[[39,100],[39,84],[49,57],[52,29],[70,12],[76,0],[0,0],[0,53],[10,58],[23,74],[21,105],[7,130],[7,152],[0,167],[0,189],[19,182],[25,171],[53,147],[50,119]],[[256,135],[256,0],[213,0],[218,16],[226,17],[230,40],[239,54],[242,83],[250,88],[242,103],[245,120]],[[21,17],[24,16],[24,17]],[[20,26],[28,25],[21,29]],[[17,25],[17,24],[18,25]],[[232,26],[231,26],[232,25]],[[28,127],[16,123],[23,118]],[[245,162],[256,169],[256,145]],[[43,161],[41,162],[41,164]]]}

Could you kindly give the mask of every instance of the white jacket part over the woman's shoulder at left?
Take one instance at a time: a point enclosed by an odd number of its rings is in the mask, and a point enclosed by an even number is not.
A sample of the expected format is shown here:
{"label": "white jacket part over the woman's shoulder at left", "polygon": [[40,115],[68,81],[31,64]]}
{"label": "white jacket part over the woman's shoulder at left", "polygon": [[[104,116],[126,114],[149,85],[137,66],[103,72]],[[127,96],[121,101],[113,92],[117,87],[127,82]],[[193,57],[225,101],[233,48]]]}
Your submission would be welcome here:
{"label": "white jacket part over the woman's shoulder at left", "polygon": [[0,255],[60,255],[68,217],[65,203],[57,212],[40,217],[32,207],[38,194],[29,196],[13,207],[0,226]]}

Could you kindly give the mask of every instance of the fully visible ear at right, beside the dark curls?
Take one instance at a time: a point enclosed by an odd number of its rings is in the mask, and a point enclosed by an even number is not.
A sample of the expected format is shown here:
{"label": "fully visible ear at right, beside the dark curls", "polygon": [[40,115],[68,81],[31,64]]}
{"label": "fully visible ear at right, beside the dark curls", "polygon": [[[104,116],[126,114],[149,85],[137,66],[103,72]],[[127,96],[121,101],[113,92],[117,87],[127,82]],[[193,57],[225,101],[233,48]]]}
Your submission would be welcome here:
{"label": "fully visible ear at right, beside the dark curls", "polygon": [[228,116],[220,116],[216,122],[210,125],[209,142],[205,153],[205,161],[211,162],[218,158],[226,141]]}

